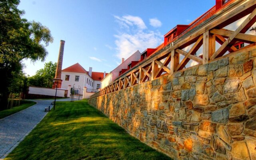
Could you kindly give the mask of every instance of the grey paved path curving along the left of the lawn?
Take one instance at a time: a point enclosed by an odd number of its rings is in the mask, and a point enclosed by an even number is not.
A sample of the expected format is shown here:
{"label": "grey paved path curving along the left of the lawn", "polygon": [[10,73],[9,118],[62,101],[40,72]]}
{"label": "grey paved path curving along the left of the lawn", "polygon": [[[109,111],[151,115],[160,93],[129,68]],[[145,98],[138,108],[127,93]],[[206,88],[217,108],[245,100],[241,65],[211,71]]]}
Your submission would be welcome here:
{"label": "grey paved path curving along the left of the lawn", "polygon": [[[34,106],[0,119],[0,160],[7,156],[48,112],[44,108],[53,100],[33,100]],[[70,101],[70,98],[56,101]],[[53,105],[51,105],[51,108]]]}

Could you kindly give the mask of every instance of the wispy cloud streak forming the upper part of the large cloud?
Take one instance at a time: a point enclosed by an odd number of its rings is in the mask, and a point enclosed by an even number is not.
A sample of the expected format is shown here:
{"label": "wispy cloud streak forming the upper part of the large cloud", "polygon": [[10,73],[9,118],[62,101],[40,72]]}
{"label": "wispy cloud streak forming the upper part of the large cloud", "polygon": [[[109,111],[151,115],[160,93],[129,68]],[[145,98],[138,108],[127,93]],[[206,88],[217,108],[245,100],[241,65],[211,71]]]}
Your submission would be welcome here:
{"label": "wispy cloud streak forming the upper part of the large cloud", "polygon": [[121,26],[121,28],[130,29],[130,26],[137,27],[140,30],[147,28],[144,21],[138,16],[114,16],[114,18],[116,19],[116,22],[118,22],[118,24]]}

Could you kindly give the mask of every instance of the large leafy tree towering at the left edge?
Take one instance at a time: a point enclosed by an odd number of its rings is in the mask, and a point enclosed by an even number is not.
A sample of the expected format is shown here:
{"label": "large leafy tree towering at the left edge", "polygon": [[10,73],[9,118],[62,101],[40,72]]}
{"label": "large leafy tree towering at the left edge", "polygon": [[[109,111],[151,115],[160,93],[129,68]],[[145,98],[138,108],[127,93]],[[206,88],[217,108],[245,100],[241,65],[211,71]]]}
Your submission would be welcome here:
{"label": "large leafy tree towering at the left edge", "polygon": [[22,70],[21,60],[44,61],[46,46],[53,42],[50,30],[39,22],[21,18],[23,10],[17,8],[19,0],[0,1],[0,110],[7,106],[10,86]]}

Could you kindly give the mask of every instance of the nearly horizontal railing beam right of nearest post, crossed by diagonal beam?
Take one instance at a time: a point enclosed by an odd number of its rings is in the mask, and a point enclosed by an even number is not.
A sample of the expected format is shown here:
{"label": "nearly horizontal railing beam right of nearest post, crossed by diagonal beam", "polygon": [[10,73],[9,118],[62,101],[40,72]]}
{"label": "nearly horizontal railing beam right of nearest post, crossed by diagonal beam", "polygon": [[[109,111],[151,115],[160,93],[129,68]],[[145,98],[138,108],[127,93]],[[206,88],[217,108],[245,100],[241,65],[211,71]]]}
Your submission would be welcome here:
{"label": "nearly horizontal railing beam right of nearest post, crossed by diagonal beam", "polygon": [[[226,29],[212,29],[210,31],[212,34],[218,34],[218,35],[221,35],[221,36],[224,36],[224,38],[228,38],[231,36],[231,34],[234,33],[234,31],[232,30],[226,30]],[[236,39],[239,39],[239,40],[242,40],[242,42],[246,42],[246,43],[249,43],[249,42],[256,42],[256,36],[254,35],[250,35],[250,34],[244,34],[244,33],[238,33],[236,36],[235,36]]]}

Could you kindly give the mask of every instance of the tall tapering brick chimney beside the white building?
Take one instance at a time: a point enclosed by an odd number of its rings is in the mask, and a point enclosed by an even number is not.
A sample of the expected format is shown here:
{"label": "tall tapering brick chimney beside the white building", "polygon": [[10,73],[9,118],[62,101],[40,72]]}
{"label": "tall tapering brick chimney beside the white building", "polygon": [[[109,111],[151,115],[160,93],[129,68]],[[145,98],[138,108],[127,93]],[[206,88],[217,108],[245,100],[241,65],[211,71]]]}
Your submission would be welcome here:
{"label": "tall tapering brick chimney beside the white building", "polygon": [[52,88],[61,88],[61,70],[62,70],[62,60],[63,60],[63,54],[64,54],[64,40],[60,40],[60,50],[59,50],[59,57],[58,57],[58,62],[57,62],[57,68],[56,68],[56,73],[55,73],[55,82],[54,85],[52,85]]}

